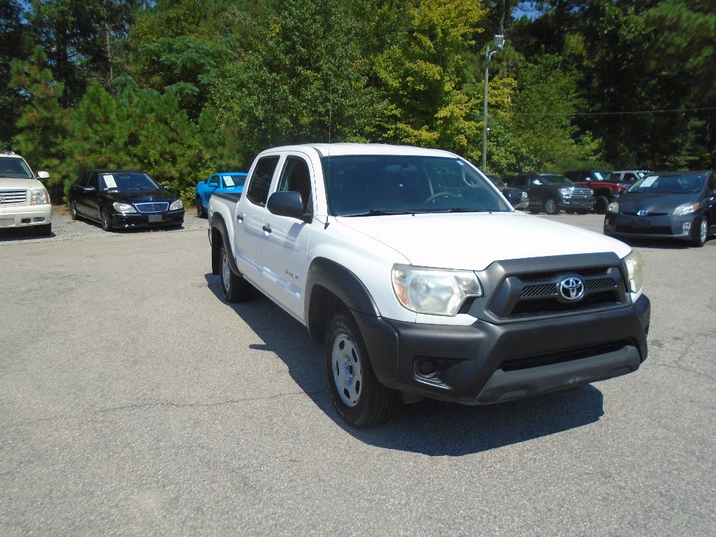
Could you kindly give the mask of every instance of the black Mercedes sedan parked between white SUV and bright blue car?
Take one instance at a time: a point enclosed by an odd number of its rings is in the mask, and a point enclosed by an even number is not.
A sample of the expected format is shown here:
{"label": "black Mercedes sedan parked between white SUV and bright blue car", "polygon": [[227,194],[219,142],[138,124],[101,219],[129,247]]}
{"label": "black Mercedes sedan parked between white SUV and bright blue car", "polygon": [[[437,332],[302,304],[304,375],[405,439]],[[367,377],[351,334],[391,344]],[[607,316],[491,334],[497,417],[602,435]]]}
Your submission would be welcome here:
{"label": "black Mercedes sedan parked between white SUV and bright blue car", "polygon": [[135,170],[89,170],[69,188],[73,220],[89,218],[102,229],[181,226],[184,205],[167,187]]}

